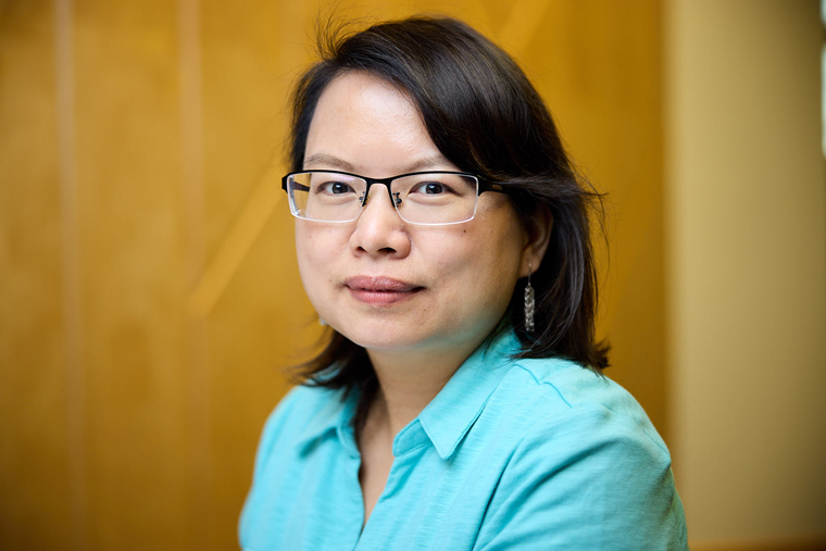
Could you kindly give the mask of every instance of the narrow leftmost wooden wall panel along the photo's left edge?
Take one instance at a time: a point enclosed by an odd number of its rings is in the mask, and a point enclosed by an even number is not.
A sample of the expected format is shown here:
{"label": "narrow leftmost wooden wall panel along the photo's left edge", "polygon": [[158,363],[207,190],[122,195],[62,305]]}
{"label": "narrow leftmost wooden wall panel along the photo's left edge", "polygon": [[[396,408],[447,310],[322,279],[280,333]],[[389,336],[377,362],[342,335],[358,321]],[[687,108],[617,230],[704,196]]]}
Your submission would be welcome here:
{"label": "narrow leftmost wooden wall panel along the photo's left edge", "polygon": [[0,548],[70,549],[54,11],[0,3]]}

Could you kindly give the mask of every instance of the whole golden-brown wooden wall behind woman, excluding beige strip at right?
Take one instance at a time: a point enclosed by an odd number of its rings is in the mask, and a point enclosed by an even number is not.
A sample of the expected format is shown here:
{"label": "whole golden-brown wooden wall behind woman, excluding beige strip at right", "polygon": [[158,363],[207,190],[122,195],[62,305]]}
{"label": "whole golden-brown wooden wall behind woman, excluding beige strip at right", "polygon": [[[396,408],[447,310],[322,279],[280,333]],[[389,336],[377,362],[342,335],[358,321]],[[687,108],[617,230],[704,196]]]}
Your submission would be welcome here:
{"label": "whole golden-brown wooden wall behind woman, excluding beige strip at right", "polygon": [[[447,12],[523,64],[612,193],[602,330],[663,428],[659,1],[335,5]],[[320,335],[279,178],[330,4],[54,7],[0,2],[0,548],[234,548],[284,368]]]}

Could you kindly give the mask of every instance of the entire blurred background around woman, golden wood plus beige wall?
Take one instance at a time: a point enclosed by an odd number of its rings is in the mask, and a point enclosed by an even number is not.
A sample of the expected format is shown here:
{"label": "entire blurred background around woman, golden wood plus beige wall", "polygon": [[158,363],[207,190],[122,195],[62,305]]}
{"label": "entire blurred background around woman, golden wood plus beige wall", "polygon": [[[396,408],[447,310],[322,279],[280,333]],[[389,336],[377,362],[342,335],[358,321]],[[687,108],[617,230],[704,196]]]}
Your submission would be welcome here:
{"label": "entire blurred background around woman, golden wood plus beige wall", "polygon": [[285,368],[320,14],[458,16],[610,193],[609,374],[694,550],[826,549],[816,0],[0,0],[0,549],[223,550]]}

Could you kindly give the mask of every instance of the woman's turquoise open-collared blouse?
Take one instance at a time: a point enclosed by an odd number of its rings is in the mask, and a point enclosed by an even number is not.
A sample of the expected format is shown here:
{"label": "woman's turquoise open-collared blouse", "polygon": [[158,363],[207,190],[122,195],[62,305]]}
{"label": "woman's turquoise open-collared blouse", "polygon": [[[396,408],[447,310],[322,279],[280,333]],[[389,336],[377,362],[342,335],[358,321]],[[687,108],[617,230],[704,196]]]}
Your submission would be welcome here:
{"label": "woman's turquoise open-collared blouse", "polygon": [[355,392],[297,387],[264,427],[242,549],[679,550],[665,443],[634,398],[565,360],[481,347],[393,440],[367,524]]}

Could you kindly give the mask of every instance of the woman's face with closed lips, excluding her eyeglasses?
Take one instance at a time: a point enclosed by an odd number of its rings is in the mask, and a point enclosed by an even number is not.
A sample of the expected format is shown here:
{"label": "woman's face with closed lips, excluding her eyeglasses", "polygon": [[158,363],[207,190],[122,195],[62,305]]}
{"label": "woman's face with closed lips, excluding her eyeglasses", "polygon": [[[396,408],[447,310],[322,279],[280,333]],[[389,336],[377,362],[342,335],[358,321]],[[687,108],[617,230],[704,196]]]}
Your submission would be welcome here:
{"label": "woman's face with closed lips, excluding her eyeglasses", "polygon": [[[430,140],[409,97],[364,72],[322,93],[304,170],[374,178],[459,171]],[[386,186],[352,223],[296,221],[301,279],[318,315],[367,350],[473,350],[497,326],[516,279],[539,265],[503,193],[479,196],[476,217],[448,226],[403,222]]]}

